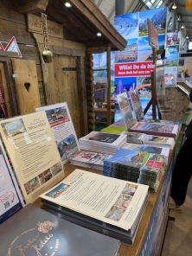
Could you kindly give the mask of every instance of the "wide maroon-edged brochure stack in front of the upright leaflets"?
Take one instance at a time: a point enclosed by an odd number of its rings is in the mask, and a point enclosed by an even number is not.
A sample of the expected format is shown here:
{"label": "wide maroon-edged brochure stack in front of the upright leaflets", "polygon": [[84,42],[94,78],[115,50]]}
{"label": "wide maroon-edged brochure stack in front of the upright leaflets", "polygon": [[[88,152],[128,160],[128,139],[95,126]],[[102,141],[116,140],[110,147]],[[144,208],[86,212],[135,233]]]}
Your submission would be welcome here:
{"label": "wide maroon-edged brochure stack in front of the upright leaflets", "polygon": [[155,136],[176,138],[177,133],[179,131],[179,126],[163,123],[138,122],[135,125],[133,125],[129,129],[129,131],[141,132]]}

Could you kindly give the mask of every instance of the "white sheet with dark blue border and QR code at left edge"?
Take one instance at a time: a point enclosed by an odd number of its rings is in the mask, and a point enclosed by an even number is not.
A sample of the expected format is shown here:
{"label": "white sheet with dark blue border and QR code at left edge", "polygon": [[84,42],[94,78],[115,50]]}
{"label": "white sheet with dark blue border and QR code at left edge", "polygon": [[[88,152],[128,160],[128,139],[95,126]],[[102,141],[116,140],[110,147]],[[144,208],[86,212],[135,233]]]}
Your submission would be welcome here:
{"label": "white sheet with dark blue border and QR code at left edge", "polygon": [[0,141],[0,224],[23,207],[22,195]]}

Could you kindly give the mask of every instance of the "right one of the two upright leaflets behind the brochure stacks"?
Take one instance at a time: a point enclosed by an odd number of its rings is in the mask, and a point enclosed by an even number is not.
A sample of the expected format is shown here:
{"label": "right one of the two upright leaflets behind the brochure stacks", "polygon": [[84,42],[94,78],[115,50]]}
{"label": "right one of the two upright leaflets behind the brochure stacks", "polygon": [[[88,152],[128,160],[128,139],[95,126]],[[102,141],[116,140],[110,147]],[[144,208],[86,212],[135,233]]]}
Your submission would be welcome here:
{"label": "right one of the two upright leaflets behind the brochure stacks", "polygon": [[135,117],[137,121],[141,121],[144,119],[144,112],[142,111],[141,102],[138,96],[138,90],[130,91],[130,98],[132,103],[133,112],[135,113]]}

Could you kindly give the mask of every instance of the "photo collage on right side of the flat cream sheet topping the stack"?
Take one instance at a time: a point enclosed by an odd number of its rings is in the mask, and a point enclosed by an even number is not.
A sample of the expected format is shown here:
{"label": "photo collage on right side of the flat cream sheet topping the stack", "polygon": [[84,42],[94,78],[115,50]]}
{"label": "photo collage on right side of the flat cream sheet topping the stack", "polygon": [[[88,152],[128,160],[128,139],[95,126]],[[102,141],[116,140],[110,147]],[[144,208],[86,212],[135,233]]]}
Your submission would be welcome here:
{"label": "photo collage on right side of the flat cream sheet topping the stack", "polygon": [[118,200],[106,214],[106,218],[112,221],[120,221],[123,214],[125,214],[125,210],[130,205],[132,197],[135,195],[137,188],[137,185],[127,183],[125,189],[118,196]]}

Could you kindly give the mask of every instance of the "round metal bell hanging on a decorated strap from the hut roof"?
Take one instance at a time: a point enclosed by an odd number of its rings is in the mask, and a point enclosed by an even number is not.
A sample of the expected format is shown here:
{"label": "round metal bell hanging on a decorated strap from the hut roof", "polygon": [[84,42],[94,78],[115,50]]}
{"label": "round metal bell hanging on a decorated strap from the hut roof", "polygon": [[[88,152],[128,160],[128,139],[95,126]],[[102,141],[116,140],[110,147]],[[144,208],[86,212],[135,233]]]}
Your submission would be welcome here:
{"label": "round metal bell hanging on a decorated strap from the hut roof", "polygon": [[49,50],[48,46],[48,24],[47,24],[47,15],[42,13],[42,32],[44,37],[44,50],[42,52],[42,58],[43,60],[48,63],[52,62],[53,60],[53,54]]}

